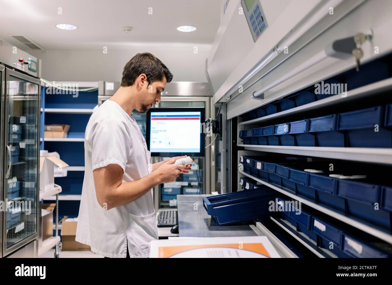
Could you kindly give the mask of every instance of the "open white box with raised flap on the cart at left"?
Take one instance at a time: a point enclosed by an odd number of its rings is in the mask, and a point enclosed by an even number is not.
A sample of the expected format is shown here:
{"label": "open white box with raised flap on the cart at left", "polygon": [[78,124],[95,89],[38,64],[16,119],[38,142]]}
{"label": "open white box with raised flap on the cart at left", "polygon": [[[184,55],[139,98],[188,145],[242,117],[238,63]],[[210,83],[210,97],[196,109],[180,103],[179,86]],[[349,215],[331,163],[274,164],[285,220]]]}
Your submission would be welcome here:
{"label": "open white box with raised flap on the cart at left", "polygon": [[59,170],[69,165],[56,156],[40,157],[40,191],[48,192],[54,188],[54,167]]}

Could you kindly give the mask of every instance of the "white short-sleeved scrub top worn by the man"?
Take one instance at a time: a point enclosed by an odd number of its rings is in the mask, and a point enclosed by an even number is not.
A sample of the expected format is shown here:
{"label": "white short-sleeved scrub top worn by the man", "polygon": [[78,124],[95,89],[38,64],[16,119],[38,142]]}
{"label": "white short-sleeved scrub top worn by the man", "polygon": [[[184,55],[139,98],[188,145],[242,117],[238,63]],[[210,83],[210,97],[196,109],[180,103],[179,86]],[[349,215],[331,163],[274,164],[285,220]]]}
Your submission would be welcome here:
{"label": "white short-sleeved scrub top worn by the man", "polygon": [[140,179],[152,172],[151,152],[134,118],[116,102],[106,100],[86,127],[85,172],[80,201],[77,242],[107,257],[125,257],[127,242],[131,257],[148,257],[149,242],[158,239],[151,191],[124,206],[104,210],[98,204],[93,170],[115,163],[124,171],[122,182]]}

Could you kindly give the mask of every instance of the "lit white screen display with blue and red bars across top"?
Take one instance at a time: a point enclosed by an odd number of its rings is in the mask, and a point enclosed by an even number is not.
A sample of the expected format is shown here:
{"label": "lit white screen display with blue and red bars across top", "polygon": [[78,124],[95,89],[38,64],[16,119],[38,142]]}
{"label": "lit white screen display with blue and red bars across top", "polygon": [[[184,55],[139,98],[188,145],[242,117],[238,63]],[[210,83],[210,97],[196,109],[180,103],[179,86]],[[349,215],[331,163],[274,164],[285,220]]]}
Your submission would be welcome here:
{"label": "lit white screen display with blue and red bars across top", "polygon": [[151,112],[151,152],[200,152],[201,112]]}

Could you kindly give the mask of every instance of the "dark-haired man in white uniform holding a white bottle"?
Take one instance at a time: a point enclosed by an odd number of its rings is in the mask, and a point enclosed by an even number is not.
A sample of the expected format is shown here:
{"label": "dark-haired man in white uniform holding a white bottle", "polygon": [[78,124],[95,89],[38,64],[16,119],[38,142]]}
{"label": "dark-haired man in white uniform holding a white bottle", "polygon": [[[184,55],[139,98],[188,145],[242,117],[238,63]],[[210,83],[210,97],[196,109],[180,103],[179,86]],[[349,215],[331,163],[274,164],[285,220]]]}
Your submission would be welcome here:
{"label": "dark-haired man in white uniform holding a white bottle", "polygon": [[134,118],[160,102],[173,75],[157,57],[136,54],[121,87],[91,115],[85,132],[85,173],[75,240],[105,257],[148,257],[158,238],[152,188],[175,181],[186,167],[150,163],[151,153]]}

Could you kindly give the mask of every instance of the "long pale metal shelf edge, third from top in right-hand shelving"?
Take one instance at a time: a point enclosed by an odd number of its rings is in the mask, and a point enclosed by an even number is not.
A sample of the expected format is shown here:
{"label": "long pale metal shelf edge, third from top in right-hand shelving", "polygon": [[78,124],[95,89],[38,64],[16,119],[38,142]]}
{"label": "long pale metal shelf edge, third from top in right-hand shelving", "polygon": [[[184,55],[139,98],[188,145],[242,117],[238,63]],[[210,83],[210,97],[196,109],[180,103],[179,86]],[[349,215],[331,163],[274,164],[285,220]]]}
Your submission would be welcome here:
{"label": "long pale metal shelf edge, third from top in right-hand shelving", "polygon": [[242,175],[245,175],[245,176],[247,176],[249,178],[252,178],[253,180],[255,180],[255,181],[257,181],[257,182],[259,182],[259,183],[261,183],[263,185],[266,185],[266,186],[268,186],[268,187],[270,187],[270,188],[272,188],[272,189],[274,189],[274,190],[276,190],[276,191],[278,191],[278,192],[280,192],[282,194],[285,194],[286,196],[289,196],[290,198],[293,198],[293,199],[295,199],[295,200],[297,200],[297,201],[299,201],[299,202],[301,202],[301,203],[303,203],[303,204],[305,204],[305,205],[307,205],[307,206],[309,206],[311,208],[314,208],[315,210],[318,210],[318,211],[320,211],[322,213],[325,213],[325,214],[327,214],[330,217],[338,219],[341,222],[344,222],[344,223],[346,223],[346,224],[348,224],[348,225],[350,225],[350,226],[352,226],[354,228],[361,229],[362,231],[365,231],[366,233],[368,233],[368,234],[370,234],[370,235],[372,235],[374,237],[380,238],[381,240],[384,240],[384,241],[392,244],[392,235],[390,235],[390,234],[388,234],[388,233],[386,233],[384,231],[376,229],[373,226],[370,226],[370,225],[365,224],[363,222],[359,222],[358,220],[351,219],[351,218],[349,218],[349,217],[347,217],[345,215],[342,215],[342,214],[340,214],[338,212],[335,212],[333,210],[325,208],[324,206],[316,204],[316,203],[314,203],[314,202],[312,202],[312,201],[310,201],[308,199],[305,199],[303,197],[299,197],[299,196],[293,194],[293,192],[291,190],[289,190],[289,189],[286,189],[284,187],[281,187],[281,186],[278,186],[278,185],[275,185],[275,184],[263,181],[263,180],[261,180],[261,179],[259,179],[257,177],[254,177],[254,176],[252,176],[250,174],[247,174],[246,172],[243,172],[241,170],[238,170],[238,172],[240,172]]}

